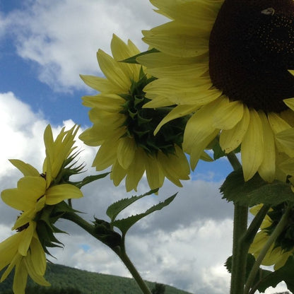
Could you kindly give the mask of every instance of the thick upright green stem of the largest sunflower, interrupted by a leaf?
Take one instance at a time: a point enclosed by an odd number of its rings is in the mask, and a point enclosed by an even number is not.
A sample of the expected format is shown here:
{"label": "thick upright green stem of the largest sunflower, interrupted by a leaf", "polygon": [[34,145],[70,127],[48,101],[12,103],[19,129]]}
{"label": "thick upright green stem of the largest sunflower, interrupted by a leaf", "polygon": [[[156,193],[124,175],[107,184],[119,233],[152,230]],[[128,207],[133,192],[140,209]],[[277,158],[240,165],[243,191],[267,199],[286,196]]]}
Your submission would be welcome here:
{"label": "thick upright green stem of the largest sunflower, interrupted by a leaf", "polygon": [[[239,170],[242,165],[235,153],[227,154],[228,160],[234,170]],[[230,294],[243,294],[246,276],[248,247],[242,239],[247,231],[248,206],[234,204],[233,228],[233,257],[231,269]]]}

